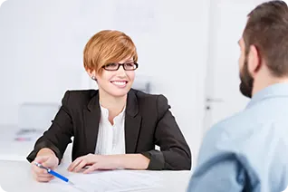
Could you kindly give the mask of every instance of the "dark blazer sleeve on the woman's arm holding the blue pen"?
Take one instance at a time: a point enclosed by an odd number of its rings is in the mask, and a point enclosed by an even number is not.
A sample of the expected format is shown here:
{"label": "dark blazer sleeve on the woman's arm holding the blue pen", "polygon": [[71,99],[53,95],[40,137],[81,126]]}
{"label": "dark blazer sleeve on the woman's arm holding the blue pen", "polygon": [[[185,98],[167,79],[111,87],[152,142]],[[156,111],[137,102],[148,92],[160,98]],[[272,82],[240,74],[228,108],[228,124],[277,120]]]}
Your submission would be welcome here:
{"label": "dark blazer sleeve on the woman's arm holding the blue pen", "polygon": [[29,162],[34,161],[38,151],[43,148],[52,149],[56,157],[59,158],[59,163],[61,162],[65,149],[72,142],[73,135],[72,116],[68,108],[69,94],[69,91],[65,92],[62,106],[52,120],[52,125],[43,133],[42,137],[37,139],[34,150],[27,157]]}

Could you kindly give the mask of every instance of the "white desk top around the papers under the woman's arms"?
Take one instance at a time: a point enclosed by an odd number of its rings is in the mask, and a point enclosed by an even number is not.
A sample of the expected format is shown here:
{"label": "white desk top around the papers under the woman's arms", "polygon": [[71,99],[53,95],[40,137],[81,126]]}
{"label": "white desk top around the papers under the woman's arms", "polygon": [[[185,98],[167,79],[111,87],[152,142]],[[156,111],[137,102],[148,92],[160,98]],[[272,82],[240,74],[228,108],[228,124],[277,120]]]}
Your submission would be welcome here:
{"label": "white desk top around the papers under the woman's arms", "polygon": [[[50,192],[55,188],[50,183],[38,183],[32,178],[30,164],[24,161],[0,160],[0,187],[1,191],[20,191],[20,192]],[[58,171],[63,170],[61,166]],[[158,176],[162,179],[162,188],[145,191],[168,191],[185,192],[190,178],[190,171],[158,171]],[[57,179],[57,178],[54,178]],[[62,191],[61,189],[57,191]]]}

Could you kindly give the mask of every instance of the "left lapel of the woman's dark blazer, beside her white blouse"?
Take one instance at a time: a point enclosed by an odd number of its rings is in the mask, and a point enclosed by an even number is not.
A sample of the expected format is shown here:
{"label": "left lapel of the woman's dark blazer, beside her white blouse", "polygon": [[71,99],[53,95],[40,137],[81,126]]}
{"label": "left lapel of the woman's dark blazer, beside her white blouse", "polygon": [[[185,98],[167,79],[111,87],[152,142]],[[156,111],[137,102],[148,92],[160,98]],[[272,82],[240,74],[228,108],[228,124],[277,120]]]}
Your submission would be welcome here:
{"label": "left lapel of the woman's dark blazer, beside her white blouse", "polygon": [[98,91],[92,97],[88,104],[88,108],[83,111],[83,114],[87,151],[88,153],[95,153],[99,123],[101,118]]}

